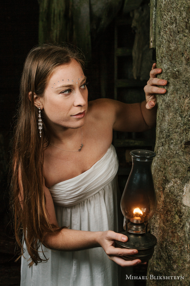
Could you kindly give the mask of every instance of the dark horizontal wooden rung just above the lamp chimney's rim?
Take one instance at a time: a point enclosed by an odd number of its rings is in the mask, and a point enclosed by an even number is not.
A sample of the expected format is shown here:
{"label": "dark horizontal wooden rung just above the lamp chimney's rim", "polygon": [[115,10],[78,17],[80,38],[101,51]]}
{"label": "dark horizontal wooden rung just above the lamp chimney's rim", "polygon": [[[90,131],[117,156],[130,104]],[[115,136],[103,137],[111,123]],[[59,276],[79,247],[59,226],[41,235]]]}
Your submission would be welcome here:
{"label": "dark horizontal wooden rung just above the lamp chimney's rim", "polygon": [[144,147],[144,146],[154,146],[155,140],[152,139],[115,139],[114,147]]}

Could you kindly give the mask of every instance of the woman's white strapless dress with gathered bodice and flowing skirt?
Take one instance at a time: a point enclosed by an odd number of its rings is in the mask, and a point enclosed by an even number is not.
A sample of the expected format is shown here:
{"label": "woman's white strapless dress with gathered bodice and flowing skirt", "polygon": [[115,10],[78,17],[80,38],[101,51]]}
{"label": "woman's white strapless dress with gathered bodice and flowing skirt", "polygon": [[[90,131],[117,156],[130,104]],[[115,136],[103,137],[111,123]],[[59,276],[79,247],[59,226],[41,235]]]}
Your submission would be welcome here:
{"label": "woman's white strapless dress with gathered bodice and flowing skirt", "polygon": [[[49,189],[60,227],[118,232],[118,166],[111,145],[89,170]],[[72,252],[43,249],[48,261],[30,268],[25,251],[21,286],[118,286],[118,265],[101,247]]]}

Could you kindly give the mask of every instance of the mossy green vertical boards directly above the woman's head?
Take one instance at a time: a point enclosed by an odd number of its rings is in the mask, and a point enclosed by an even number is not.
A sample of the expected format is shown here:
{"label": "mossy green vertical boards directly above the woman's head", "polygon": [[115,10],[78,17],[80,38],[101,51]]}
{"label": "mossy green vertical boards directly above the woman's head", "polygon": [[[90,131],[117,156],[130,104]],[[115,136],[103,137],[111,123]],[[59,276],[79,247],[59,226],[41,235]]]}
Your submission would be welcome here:
{"label": "mossy green vertical boards directly above the woman's head", "polygon": [[91,58],[89,0],[39,0],[39,42],[67,42]]}

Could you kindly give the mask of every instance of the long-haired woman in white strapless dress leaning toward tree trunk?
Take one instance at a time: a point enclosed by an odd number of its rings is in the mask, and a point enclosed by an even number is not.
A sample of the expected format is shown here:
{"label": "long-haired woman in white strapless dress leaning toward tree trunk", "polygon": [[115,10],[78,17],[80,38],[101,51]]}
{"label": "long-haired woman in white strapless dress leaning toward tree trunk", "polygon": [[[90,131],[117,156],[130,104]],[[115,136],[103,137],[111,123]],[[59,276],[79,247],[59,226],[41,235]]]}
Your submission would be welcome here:
{"label": "long-haired woman in white strapless dress leaning toward tree trunk", "polygon": [[[21,285],[118,285],[118,159],[112,132],[156,124],[156,97],[166,85],[153,65],[146,101],[87,102],[83,61],[75,51],[42,45],[28,54],[15,128],[12,191],[17,241],[23,235]],[[79,151],[79,152],[78,152]],[[46,262],[46,263],[44,263]],[[28,266],[29,263],[29,266]]]}

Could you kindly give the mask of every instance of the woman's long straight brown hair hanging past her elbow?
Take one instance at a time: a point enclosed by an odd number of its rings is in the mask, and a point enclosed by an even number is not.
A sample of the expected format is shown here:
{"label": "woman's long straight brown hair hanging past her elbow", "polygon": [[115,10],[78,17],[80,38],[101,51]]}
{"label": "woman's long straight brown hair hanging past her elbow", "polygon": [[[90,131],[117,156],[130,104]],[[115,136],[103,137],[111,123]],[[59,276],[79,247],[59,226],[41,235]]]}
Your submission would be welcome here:
{"label": "woman's long straight brown hair hanging past her elbow", "polygon": [[[49,144],[49,134],[42,111],[42,137],[39,136],[34,93],[42,97],[56,67],[70,63],[71,59],[84,66],[81,53],[68,45],[40,45],[28,53],[24,63],[18,120],[12,142],[11,204],[15,237],[21,247],[21,255],[24,253],[24,241],[26,243],[31,258],[29,266],[47,261],[45,255],[44,259],[41,258],[39,248],[44,244],[46,234],[56,229],[48,220],[43,190],[43,151]],[[28,97],[30,92],[31,100]]]}

